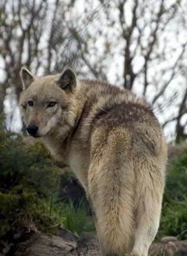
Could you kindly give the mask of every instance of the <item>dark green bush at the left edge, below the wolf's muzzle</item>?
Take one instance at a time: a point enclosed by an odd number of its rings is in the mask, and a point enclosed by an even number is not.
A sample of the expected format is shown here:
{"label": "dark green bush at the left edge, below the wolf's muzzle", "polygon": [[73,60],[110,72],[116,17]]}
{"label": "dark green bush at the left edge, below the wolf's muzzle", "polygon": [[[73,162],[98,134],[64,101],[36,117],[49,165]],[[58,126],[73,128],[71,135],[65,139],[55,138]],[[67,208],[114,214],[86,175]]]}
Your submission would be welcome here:
{"label": "dark green bush at the left edge, below the wolf's muzzle", "polygon": [[41,142],[25,143],[5,130],[2,118],[0,166],[0,236],[30,221],[39,225],[44,216],[49,226],[54,220],[44,203],[57,192],[61,170]]}

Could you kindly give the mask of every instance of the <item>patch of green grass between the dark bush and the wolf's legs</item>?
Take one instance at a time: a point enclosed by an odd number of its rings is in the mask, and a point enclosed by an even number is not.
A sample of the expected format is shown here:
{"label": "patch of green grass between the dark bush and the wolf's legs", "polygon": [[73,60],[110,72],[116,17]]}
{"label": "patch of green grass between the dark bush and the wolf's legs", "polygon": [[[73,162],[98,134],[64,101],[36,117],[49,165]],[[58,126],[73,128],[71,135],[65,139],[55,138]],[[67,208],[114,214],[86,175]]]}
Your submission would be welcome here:
{"label": "patch of green grass between the dark bush and the wolf's legs", "polygon": [[43,201],[36,218],[37,226],[45,232],[56,232],[58,226],[63,226],[73,233],[91,232],[95,234],[92,216],[88,215],[87,205],[84,201],[75,207],[73,201],[57,203],[56,199]]}

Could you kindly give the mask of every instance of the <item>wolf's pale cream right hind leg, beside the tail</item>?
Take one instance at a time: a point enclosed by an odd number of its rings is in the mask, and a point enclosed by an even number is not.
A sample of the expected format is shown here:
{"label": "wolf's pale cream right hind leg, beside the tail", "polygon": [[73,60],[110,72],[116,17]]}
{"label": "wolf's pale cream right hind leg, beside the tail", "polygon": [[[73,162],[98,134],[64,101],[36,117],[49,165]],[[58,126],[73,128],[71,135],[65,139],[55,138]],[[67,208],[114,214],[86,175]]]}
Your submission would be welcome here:
{"label": "wolf's pale cream right hind leg, beside the tail", "polygon": [[[140,159],[140,158],[139,158]],[[164,188],[164,167],[154,160],[138,160],[135,164],[136,196],[135,243],[131,256],[147,256],[158,231]]]}

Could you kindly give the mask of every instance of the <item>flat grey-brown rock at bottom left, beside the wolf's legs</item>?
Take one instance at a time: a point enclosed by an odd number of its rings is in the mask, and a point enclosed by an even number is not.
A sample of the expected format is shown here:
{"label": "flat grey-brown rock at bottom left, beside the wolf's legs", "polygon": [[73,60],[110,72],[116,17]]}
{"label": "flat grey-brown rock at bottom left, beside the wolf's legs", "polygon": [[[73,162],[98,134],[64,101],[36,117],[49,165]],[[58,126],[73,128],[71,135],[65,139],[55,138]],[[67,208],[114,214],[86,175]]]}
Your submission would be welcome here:
{"label": "flat grey-brown rock at bottom left, beside the wolf's legs", "polygon": [[[62,231],[62,230],[61,230]],[[99,256],[100,251],[96,237],[82,234],[81,237],[67,234],[63,230],[64,238],[55,235],[36,233],[29,241],[17,244],[11,252],[13,256]],[[60,234],[62,235],[62,233]],[[68,241],[68,237],[70,240]]]}

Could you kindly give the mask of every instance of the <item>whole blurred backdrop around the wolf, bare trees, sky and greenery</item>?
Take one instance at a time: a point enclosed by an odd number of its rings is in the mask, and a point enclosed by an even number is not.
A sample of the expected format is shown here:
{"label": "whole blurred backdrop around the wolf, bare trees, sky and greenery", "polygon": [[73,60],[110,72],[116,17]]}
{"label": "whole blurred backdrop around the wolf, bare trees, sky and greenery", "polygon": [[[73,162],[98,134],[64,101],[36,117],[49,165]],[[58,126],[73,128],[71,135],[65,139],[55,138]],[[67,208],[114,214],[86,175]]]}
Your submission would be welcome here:
{"label": "whole blurred backdrop around the wolf, bare trees, sky and greenery", "polygon": [[157,239],[186,239],[186,43],[186,0],[0,1],[0,253],[23,228],[94,232],[77,178],[25,136],[23,66],[38,76],[70,66],[147,98],[173,145]]}

